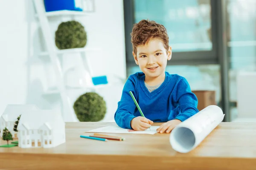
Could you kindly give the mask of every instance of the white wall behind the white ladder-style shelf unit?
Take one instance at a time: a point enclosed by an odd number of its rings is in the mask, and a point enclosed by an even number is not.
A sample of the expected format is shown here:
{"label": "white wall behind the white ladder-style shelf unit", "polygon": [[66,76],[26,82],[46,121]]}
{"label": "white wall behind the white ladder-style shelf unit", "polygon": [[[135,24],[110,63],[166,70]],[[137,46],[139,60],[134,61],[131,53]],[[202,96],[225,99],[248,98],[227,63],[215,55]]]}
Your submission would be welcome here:
{"label": "white wall behind the white ladder-style shelf unit", "polygon": [[[0,114],[7,104],[35,104],[39,108],[59,108],[59,95],[44,96],[45,88],[55,85],[55,76],[49,58],[38,57],[42,42],[38,20],[34,14],[32,0],[0,1]],[[15,4],[15,5],[14,5]],[[101,48],[88,52],[93,67],[93,76],[116,74],[126,77],[125,37],[122,0],[95,0],[96,13],[77,20],[87,31],[87,47]],[[10,11],[12,8],[12,12]],[[113,10],[114,9],[114,10]],[[51,20],[53,31],[60,21]],[[71,58],[73,57],[73,58]],[[77,55],[64,56],[64,69],[76,64]],[[48,64],[47,64],[48,63]],[[115,88],[112,87],[112,91]],[[111,91],[99,93],[107,103],[108,112],[113,113],[119,100],[122,86],[111,100]],[[74,101],[79,94],[70,92]],[[115,104],[116,105],[113,105]]]}

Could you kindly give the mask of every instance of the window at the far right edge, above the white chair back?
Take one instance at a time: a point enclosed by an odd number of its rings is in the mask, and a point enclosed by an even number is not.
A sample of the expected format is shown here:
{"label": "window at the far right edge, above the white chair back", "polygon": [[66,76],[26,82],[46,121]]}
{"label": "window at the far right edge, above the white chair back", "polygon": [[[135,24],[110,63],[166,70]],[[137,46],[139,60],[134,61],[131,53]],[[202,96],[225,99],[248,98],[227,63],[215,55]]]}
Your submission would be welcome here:
{"label": "window at the far right edge, above the white chair back", "polygon": [[[227,51],[229,57],[229,103],[231,121],[237,110],[237,74],[256,71],[256,0],[227,0]],[[246,90],[246,89],[245,89]],[[251,110],[247,108],[248,112]],[[250,118],[249,118],[250,119]]]}

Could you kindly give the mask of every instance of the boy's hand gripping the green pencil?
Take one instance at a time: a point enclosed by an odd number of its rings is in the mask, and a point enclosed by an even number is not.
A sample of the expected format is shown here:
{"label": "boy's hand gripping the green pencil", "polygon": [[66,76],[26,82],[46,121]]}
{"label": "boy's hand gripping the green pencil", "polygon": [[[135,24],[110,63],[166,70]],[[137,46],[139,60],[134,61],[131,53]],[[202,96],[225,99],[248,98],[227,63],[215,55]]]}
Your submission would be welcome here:
{"label": "boy's hand gripping the green pencil", "polygon": [[131,128],[133,130],[138,130],[138,131],[146,130],[148,127],[151,127],[152,124],[153,124],[153,121],[142,116],[135,117],[134,119],[131,120]]}

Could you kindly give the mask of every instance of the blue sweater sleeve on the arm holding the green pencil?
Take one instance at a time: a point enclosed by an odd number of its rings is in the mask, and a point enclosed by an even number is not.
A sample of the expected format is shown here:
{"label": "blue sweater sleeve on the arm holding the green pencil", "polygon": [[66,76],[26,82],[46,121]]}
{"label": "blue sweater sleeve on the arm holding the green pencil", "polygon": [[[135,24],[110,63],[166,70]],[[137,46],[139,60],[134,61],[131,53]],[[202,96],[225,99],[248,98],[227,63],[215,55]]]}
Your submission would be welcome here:
{"label": "blue sweater sleeve on the arm holding the green pencil", "polygon": [[117,110],[114,115],[114,119],[116,121],[116,124],[119,127],[122,128],[128,128],[131,129],[131,120],[136,117],[134,116],[134,111],[136,108],[136,105],[134,104],[133,99],[131,98],[131,95],[129,92],[132,91],[135,97],[135,83],[128,78],[125,82],[121,100],[118,102]]}

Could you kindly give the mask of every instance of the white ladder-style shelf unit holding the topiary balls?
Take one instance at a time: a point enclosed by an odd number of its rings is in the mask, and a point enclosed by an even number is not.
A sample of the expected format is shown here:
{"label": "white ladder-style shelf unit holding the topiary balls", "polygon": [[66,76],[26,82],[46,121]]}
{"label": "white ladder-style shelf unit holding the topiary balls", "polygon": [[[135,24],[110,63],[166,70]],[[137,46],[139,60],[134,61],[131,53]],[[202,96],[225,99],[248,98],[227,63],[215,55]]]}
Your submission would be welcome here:
{"label": "white ladder-style shelf unit holding the topiary balls", "polygon": [[[92,69],[90,68],[90,61],[88,57],[85,55],[85,52],[87,51],[99,51],[99,48],[72,48],[72,49],[64,49],[64,50],[58,50],[55,45],[55,40],[51,39],[49,37],[52,37],[49,20],[48,17],[66,17],[70,16],[71,18],[74,18],[76,16],[83,16],[91,14],[92,12],[85,12],[85,11],[52,11],[52,12],[46,12],[44,7],[43,0],[33,0],[35,5],[35,10],[37,12],[36,17],[38,18],[38,21],[40,23],[43,38],[46,43],[46,49],[47,51],[44,51],[40,54],[40,56],[49,56],[50,60],[52,62],[52,66],[55,71],[56,75],[56,82],[57,88],[55,90],[48,90],[44,93],[44,95],[51,95],[51,94],[60,94],[61,100],[62,100],[62,106],[63,106],[63,119],[65,122],[76,122],[78,119],[75,116],[74,110],[73,110],[73,104],[70,102],[70,98],[67,95],[67,89],[64,84],[63,79],[63,72],[61,68],[61,63],[59,61],[59,56],[67,53],[80,53],[81,58],[83,60],[84,66],[88,68],[88,71],[90,75],[92,76]],[[93,10],[94,11],[94,10]],[[60,19],[61,20],[61,19]],[[92,77],[90,77],[92,78]],[[100,88],[105,85],[97,85],[93,87],[84,87],[86,89],[95,91],[97,88]]]}

